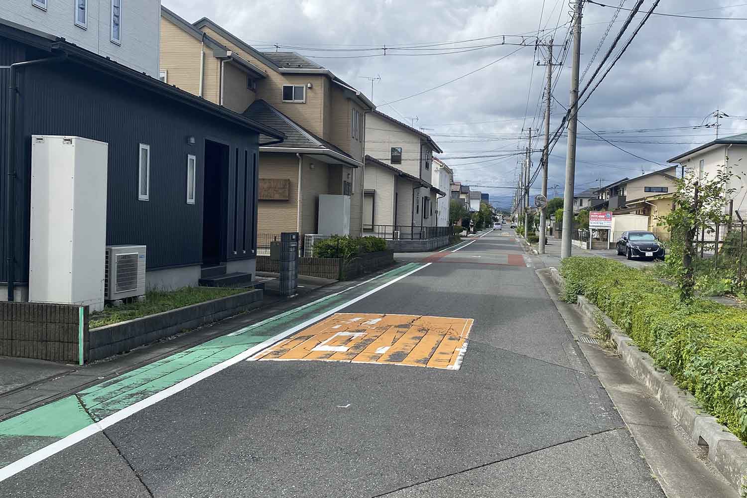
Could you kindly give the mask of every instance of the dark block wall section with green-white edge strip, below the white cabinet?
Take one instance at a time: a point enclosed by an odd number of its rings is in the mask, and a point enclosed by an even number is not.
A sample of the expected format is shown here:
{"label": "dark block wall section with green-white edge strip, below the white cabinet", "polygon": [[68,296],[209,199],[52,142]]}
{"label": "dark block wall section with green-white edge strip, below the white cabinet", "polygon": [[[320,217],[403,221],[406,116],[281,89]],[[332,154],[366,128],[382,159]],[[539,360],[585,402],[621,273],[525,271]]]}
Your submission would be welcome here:
{"label": "dark block wall section with green-white edge strip, below the white cabinet", "polygon": [[[80,308],[43,302],[0,302],[0,355],[77,363]],[[85,356],[88,307],[82,308]]]}

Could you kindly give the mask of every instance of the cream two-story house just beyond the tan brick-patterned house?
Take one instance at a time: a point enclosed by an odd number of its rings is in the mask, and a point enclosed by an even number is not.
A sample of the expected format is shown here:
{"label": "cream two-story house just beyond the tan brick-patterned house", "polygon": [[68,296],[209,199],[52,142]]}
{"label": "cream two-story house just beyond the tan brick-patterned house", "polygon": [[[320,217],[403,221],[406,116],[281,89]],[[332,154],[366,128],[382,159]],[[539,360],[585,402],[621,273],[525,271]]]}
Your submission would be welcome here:
{"label": "cream two-story house just beyond the tan brick-patterned house", "polygon": [[423,233],[438,225],[438,198],[447,194],[433,186],[436,142],[385,113],[366,119],[364,228],[397,226],[400,233]]}

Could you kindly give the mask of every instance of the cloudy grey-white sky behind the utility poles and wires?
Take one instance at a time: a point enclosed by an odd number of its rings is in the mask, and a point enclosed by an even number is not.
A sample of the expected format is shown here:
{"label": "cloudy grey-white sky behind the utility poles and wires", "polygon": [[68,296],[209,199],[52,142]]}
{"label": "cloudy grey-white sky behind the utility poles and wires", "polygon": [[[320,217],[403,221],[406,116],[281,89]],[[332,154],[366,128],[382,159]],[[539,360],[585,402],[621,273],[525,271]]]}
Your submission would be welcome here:
{"label": "cloudy grey-white sky behind the utility poles and wires", "polygon": [[[620,0],[599,3],[614,7],[584,5],[581,72],[600,46]],[[653,3],[645,0],[641,10],[647,11]],[[371,82],[361,77],[380,76],[373,84],[373,102],[379,111],[425,128],[444,149],[441,158],[453,167],[456,180],[489,186],[515,184],[517,156],[505,155],[524,151],[526,129],[543,126],[545,66],[536,63],[545,62],[547,50],[535,49],[535,37],[542,30],[541,40],[554,38],[554,63],[560,64],[570,22],[568,0],[163,0],[163,4],[190,21],[207,16],[258,49],[276,50],[278,45],[281,51],[306,55],[367,96],[371,96]],[[636,0],[625,0],[622,6],[635,4]],[[656,11],[747,18],[747,3],[662,0]],[[582,88],[628,14],[619,11]],[[642,13],[635,17],[619,46],[642,18]],[[579,125],[575,190],[660,169],[678,152],[713,140],[715,127],[693,127],[715,123],[709,114],[716,109],[729,116],[747,116],[746,34],[746,20],[652,16],[579,114],[589,128],[642,159]],[[527,46],[522,48],[521,43]],[[389,48],[385,56],[376,49],[383,46]],[[474,72],[483,66],[487,67]],[[552,101],[551,131],[565,113],[562,105],[568,105],[570,66],[568,53],[565,63],[554,68],[557,101]],[[467,75],[470,72],[474,74]],[[462,75],[466,76],[447,83]],[[746,119],[721,119],[720,136],[744,131]],[[541,140],[533,140],[533,149],[541,148]],[[561,139],[549,169],[549,185],[560,185],[559,195],[565,182],[565,154]],[[503,157],[465,158],[475,155]],[[533,155],[535,166],[539,157]],[[539,186],[538,178],[533,193],[539,193]],[[479,188],[491,193],[492,199],[511,195],[509,190]]]}

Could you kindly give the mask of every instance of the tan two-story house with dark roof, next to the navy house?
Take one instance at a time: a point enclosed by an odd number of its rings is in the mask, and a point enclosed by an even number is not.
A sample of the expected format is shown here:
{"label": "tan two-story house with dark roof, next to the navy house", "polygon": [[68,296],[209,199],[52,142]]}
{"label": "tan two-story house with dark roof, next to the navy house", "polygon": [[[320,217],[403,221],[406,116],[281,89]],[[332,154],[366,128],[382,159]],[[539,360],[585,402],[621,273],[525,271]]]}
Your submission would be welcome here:
{"label": "tan two-story house with dark roof, next to the navy house", "polygon": [[210,19],[190,23],[165,7],[161,77],[287,137],[259,138],[259,234],[361,234],[374,109],[362,93],[306,57],[259,52]]}

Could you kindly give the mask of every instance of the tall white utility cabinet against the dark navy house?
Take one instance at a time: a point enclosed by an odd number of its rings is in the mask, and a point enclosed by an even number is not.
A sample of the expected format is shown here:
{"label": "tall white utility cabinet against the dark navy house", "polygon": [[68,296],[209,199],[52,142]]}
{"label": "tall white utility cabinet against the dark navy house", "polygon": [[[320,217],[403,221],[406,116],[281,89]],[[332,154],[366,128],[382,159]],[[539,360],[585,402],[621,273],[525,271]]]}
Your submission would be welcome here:
{"label": "tall white utility cabinet against the dark navy house", "polygon": [[31,137],[28,299],[104,309],[108,144]]}

